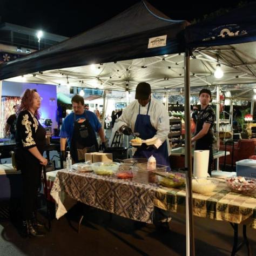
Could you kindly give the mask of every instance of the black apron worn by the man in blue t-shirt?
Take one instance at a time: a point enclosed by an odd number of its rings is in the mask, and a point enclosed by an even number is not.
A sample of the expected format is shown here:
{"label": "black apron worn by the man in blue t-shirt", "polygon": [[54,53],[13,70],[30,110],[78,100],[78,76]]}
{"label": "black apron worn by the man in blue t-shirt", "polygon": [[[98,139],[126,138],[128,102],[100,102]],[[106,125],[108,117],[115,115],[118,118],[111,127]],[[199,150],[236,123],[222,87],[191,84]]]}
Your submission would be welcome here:
{"label": "black apron worn by the man in blue t-shirt", "polygon": [[74,130],[71,139],[70,154],[75,163],[84,161],[84,154],[99,151],[95,131],[85,114],[83,122],[78,123],[74,113]]}

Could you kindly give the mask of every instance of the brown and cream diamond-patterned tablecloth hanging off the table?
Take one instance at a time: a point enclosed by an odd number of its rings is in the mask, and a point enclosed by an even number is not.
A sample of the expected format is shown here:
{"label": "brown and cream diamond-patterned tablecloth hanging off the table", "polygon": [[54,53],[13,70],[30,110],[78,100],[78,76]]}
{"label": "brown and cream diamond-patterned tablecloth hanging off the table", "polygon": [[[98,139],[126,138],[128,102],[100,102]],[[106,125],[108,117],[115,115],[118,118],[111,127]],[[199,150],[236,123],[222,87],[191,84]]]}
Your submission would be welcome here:
{"label": "brown and cream diamond-patterned tablecloth hanging off the table", "polygon": [[76,200],[125,218],[152,223],[155,191],[156,187],[151,185],[62,170],[57,173],[51,196],[56,201],[57,219]]}

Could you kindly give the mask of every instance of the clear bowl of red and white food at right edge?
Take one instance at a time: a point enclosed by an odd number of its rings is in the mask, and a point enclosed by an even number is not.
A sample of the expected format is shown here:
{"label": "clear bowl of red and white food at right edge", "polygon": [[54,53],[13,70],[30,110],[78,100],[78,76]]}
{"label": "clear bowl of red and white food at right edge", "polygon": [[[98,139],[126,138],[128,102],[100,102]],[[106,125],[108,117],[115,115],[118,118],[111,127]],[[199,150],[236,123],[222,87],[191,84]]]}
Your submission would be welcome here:
{"label": "clear bowl of red and white food at right edge", "polygon": [[251,194],[256,190],[256,179],[251,177],[226,178],[227,186],[232,191],[242,194]]}

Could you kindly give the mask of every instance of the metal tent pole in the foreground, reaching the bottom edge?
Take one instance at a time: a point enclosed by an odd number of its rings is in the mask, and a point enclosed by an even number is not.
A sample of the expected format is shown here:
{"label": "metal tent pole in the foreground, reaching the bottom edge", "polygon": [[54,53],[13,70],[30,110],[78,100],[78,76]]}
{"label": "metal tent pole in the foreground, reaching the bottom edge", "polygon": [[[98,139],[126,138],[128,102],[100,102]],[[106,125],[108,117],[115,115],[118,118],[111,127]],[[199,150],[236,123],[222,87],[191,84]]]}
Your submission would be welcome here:
{"label": "metal tent pole in the foreground, reaching the bottom edge", "polygon": [[194,256],[194,225],[192,205],[192,158],[190,131],[190,50],[184,55],[184,83],[185,83],[185,167],[186,171],[186,255]]}

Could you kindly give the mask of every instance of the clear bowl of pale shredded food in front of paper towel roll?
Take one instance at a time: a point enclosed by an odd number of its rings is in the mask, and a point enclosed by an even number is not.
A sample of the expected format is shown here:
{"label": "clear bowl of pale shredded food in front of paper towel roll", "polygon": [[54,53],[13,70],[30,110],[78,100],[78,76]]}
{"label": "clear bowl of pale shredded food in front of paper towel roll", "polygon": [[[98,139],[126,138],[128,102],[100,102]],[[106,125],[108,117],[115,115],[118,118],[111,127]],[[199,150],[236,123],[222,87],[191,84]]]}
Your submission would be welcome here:
{"label": "clear bowl of pale shredded food in front of paper towel roll", "polygon": [[219,181],[210,177],[195,177],[192,179],[192,191],[199,194],[210,194]]}

